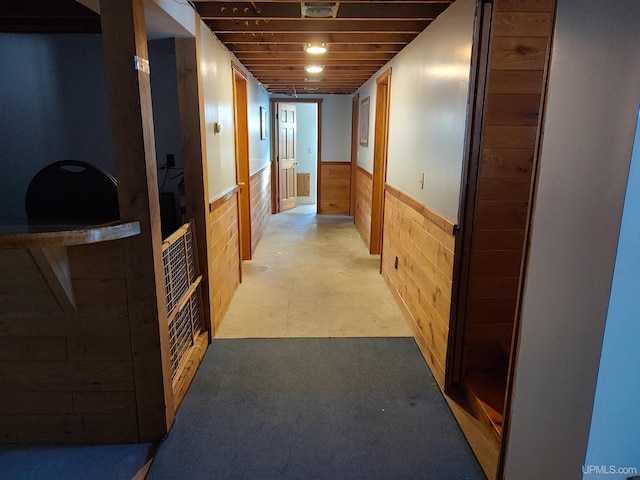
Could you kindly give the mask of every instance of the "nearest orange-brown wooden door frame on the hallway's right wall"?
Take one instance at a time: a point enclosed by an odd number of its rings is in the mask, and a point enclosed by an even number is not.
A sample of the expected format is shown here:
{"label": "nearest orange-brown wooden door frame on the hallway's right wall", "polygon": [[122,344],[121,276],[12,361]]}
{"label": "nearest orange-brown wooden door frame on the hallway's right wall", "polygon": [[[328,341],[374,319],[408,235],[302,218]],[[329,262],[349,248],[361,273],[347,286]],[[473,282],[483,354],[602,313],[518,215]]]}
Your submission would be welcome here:
{"label": "nearest orange-brown wooden door frame on the hallway's right wall", "polygon": [[[373,188],[371,192],[371,237],[369,253],[382,259],[382,225],[384,184],[387,180],[389,147],[389,105],[391,101],[391,67],[376,78],[376,110],[373,141]],[[380,262],[382,266],[382,262]]]}

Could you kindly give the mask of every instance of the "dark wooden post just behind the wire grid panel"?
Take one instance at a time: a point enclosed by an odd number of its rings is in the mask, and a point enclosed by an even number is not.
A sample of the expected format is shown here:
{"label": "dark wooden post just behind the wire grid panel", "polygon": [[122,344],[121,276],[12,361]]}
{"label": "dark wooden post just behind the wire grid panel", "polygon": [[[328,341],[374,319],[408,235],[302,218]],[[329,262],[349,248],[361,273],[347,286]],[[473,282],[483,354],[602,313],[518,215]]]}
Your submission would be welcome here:
{"label": "dark wooden post just behind the wire grid panel", "polygon": [[[178,75],[178,99],[184,163],[185,208],[187,218],[193,219],[194,241],[197,246],[198,272],[202,275],[202,288],[209,288],[207,259],[209,176],[206,152],[202,73],[199,69],[200,22],[196,22],[195,38],[176,38],[176,69]],[[202,321],[211,332],[211,307],[209,296],[202,296]]]}

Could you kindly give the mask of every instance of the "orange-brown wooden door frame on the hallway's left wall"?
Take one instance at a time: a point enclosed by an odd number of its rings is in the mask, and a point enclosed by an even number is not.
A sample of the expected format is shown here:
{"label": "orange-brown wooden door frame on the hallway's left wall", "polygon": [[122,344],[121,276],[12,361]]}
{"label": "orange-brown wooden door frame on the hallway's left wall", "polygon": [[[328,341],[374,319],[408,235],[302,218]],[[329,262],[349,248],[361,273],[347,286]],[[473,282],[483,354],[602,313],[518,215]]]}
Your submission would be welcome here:
{"label": "orange-brown wooden door frame on the hallway's left wall", "polygon": [[247,75],[231,62],[233,75],[233,118],[236,150],[236,183],[238,184],[238,227],[240,258],[251,260],[251,178],[249,172],[249,104]]}

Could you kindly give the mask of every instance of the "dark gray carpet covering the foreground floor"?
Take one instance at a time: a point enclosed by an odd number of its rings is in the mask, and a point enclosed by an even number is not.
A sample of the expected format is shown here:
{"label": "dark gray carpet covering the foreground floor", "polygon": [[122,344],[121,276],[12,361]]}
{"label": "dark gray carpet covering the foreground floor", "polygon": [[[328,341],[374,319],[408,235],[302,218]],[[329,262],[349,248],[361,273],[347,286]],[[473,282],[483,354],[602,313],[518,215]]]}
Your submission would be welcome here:
{"label": "dark gray carpet covering the foreground floor", "polygon": [[412,338],[214,340],[149,480],[485,479]]}

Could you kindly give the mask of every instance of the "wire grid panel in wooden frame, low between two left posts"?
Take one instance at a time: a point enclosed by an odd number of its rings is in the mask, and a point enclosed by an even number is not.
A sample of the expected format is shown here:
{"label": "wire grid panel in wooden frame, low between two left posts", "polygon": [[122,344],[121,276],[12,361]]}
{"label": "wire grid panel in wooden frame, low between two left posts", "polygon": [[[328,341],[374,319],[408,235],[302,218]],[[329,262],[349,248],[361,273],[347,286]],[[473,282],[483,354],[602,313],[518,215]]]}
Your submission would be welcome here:
{"label": "wire grid panel in wooden frame, low between two left posts", "polygon": [[199,302],[202,277],[196,272],[191,228],[191,223],[183,225],[162,244],[171,378],[174,381],[186,354],[202,331]]}

